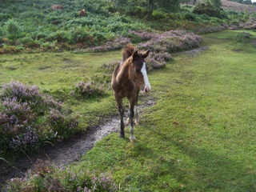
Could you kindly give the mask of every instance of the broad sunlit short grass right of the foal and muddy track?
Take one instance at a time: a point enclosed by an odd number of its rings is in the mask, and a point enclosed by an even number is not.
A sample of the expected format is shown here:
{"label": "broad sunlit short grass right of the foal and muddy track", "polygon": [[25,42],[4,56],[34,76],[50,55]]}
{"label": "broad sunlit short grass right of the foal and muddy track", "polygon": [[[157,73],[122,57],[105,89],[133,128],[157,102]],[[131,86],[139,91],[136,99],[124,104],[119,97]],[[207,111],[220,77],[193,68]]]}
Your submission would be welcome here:
{"label": "broad sunlit short grass right of the foal and muddy track", "polygon": [[121,191],[256,190],[256,50],[238,33],[206,34],[207,50],[150,73],[157,103],[138,142],[111,134],[76,168],[112,174]]}

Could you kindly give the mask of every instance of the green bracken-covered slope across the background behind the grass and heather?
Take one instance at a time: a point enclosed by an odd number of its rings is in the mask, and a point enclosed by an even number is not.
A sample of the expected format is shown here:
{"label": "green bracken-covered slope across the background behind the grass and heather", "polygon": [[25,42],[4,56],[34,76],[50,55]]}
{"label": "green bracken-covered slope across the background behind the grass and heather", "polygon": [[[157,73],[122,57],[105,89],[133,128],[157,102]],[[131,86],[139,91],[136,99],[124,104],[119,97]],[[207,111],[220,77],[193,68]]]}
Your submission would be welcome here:
{"label": "green bracken-covered slope across the background behind the grass and heather", "polygon": [[[116,2],[63,0],[54,2],[62,4],[63,10],[51,11],[53,2],[49,0],[3,1],[0,7],[0,54],[101,51],[109,50],[110,46],[119,49],[126,38],[136,43],[149,40],[151,37],[147,32],[180,29],[210,33],[234,24],[239,26],[239,23],[254,18],[254,14],[246,11],[222,10],[212,3],[190,6],[175,2],[172,9],[163,9],[173,3],[162,6],[166,3],[162,1],[154,5],[155,10],[148,21],[147,2],[129,3],[129,6],[123,6],[122,2],[122,8],[115,6]],[[158,6],[162,8],[156,9]],[[82,9],[86,10],[86,16],[79,17],[78,11]],[[209,14],[213,11],[214,14]],[[137,38],[142,31],[145,32],[143,38]]]}

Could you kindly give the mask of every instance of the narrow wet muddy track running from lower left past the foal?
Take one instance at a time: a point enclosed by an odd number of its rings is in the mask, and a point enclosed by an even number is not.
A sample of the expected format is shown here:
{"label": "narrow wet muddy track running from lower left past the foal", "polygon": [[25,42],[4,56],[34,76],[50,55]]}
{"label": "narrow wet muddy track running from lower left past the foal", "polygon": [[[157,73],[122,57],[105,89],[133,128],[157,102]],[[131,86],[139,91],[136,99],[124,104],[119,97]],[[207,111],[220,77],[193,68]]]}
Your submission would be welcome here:
{"label": "narrow wet muddy track running from lower left past the foal", "polygon": [[[146,100],[149,97],[142,99]],[[154,100],[152,99],[143,102],[145,103],[138,107],[141,111],[146,107],[154,105]],[[46,146],[38,154],[24,154],[14,164],[0,158],[0,184],[4,184],[7,179],[24,176],[26,171],[39,159],[50,162],[58,167],[78,161],[83,154],[86,154],[88,150],[94,147],[95,142],[98,142],[108,134],[118,132],[119,121],[118,116],[104,119],[100,126],[90,127],[86,130],[86,133],[74,135],[69,140],[59,142],[56,145],[49,144],[49,146]]]}

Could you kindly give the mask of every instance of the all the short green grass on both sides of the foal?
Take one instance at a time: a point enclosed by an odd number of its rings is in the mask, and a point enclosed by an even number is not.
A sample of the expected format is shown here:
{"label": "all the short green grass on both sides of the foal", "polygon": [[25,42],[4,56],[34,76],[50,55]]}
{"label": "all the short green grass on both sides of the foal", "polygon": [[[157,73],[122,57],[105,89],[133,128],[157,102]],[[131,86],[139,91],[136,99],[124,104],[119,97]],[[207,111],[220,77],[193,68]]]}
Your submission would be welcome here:
{"label": "all the short green grass on both sides of the foal", "polygon": [[[130,143],[126,127],[125,139],[110,134],[69,169],[110,174],[120,191],[255,191],[256,49],[236,42],[241,32],[205,34],[207,50],[174,54],[165,68],[151,70],[152,92],[143,99],[156,104],[140,114],[137,142]],[[60,95],[69,95],[76,82],[102,81],[102,74],[110,83],[102,63],[119,58],[120,51],[2,55],[0,84],[13,79],[39,86],[68,102],[86,128],[117,114],[112,91],[102,98]]]}

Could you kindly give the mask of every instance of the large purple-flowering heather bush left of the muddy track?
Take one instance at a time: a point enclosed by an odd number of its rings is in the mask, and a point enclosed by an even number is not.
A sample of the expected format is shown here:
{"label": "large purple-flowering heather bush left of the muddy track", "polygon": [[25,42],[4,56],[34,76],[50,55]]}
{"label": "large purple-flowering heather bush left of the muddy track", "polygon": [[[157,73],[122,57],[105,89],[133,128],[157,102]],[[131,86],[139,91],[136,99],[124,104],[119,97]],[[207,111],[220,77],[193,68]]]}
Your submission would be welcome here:
{"label": "large purple-flowering heather bush left of the muddy track", "polygon": [[38,86],[10,82],[2,86],[0,152],[31,152],[46,142],[62,140],[78,121],[62,111],[62,103],[42,94]]}

